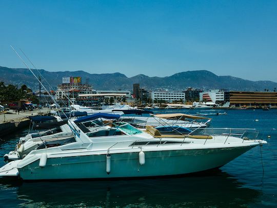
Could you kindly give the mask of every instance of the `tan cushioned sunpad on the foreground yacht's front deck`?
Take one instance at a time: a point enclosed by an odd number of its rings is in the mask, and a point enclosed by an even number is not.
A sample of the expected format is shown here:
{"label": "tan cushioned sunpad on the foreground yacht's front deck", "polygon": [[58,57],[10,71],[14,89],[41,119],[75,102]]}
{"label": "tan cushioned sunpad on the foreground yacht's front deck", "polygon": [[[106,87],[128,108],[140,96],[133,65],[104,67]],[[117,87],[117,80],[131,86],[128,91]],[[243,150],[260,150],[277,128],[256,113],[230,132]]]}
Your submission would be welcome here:
{"label": "tan cushioned sunpad on the foreground yacht's front deck", "polygon": [[212,139],[209,135],[162,135],[153,126],[146,126],[146,132],[155,138],[191,138],[191,139]]}

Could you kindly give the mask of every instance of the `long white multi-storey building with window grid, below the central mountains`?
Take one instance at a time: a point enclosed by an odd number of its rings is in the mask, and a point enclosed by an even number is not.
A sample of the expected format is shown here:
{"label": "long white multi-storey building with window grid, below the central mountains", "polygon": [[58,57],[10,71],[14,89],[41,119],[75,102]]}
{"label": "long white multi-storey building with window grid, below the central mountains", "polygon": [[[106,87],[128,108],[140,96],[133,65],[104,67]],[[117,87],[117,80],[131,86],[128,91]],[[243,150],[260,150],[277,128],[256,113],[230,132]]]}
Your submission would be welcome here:
{"label": "long white multi-storey building with window grid, below the central mountains", "polygon": [[153,102],[155,100],[164,100],[166,102],[182,100],[185,102],[185,92],[153,91],[149,95]]}

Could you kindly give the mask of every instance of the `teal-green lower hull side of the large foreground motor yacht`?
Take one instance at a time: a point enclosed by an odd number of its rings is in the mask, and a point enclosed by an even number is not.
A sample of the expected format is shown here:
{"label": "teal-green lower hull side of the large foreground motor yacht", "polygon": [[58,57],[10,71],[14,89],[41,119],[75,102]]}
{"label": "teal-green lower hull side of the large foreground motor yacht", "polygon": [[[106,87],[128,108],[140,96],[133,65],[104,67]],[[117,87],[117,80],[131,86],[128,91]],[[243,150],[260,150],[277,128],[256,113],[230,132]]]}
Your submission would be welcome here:
{"label": "teal-green lower hull side of the large foreground motor yacht", "polygon": [[24,180],[108,179],[182,175],[221,167],[254,146],[182,149],[144,152],[145,164],[140,165],[139,153],[110,154],[110,173],[106,172],[106,155],[48,158],[45,167],[39,160],[18,168]]}

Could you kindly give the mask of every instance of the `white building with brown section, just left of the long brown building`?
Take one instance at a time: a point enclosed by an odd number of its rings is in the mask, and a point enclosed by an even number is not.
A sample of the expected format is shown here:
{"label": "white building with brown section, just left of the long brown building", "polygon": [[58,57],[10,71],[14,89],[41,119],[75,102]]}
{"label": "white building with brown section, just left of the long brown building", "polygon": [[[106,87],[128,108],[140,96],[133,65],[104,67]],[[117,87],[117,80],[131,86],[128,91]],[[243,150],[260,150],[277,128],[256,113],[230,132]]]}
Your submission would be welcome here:
{"label": "white building with brown section, just left of the long brown building", "polygon": [[[213,103],[222,103],[226,102],[225,91],[222,89],[213,89],[209,91],[203,91],[199,93],[199,100],[201,102],[213,102]],[[226,96],[228,98],[228,96]]]}

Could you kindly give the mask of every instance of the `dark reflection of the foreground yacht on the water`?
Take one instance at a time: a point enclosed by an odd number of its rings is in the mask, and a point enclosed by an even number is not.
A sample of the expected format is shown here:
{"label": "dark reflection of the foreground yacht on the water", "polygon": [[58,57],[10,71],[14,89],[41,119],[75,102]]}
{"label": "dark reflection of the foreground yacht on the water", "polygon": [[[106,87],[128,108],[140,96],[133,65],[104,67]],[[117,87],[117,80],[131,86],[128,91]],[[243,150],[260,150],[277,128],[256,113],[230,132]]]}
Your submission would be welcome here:
{"label": "dark reflection of the foreground yacht on the water", "polygon": [[[225,172],[179,178],[6,183],[21,205],[101,207],[241,206],[255,202],[259,191]],[[14,191],[11,191],[13,190]],[[10,190],[10,191],[9,191]]]}

